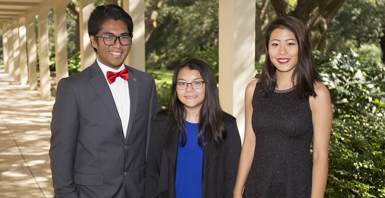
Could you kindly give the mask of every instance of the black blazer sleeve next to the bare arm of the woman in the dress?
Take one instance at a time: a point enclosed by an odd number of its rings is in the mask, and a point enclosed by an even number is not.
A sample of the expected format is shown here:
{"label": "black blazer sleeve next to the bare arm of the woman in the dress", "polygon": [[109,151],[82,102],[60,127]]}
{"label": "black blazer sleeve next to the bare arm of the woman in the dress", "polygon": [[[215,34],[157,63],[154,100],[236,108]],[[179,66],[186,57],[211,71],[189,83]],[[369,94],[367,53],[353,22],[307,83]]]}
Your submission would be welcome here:
{"label": "black blazer sleeve next to the bare arm of the woman in the dress", "polygon": [[226,183],[226,198],[233,197],[233,190],[237,178],[239,157],[241,155],[241,138],[238,132],[236,119],[226,121],[227,138],[223,144],[224,172]]}

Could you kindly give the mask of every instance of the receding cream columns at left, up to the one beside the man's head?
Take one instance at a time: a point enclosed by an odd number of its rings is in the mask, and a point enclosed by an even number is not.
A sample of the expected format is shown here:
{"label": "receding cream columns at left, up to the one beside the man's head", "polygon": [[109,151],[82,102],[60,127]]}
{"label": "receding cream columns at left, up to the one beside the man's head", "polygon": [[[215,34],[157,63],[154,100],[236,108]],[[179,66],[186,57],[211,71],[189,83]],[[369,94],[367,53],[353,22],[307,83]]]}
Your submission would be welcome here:
{"label": "receding cream columns at left, up to the one beside the man's head", "polygon": [[[71,0],[41,1],[29,4],[30,8],[8,22],[2,22],[4,71],[22,85],[29,84],[31,90],[37,89],[36,54],[38,53],[40,90],[42,99],[50,99],[50,70],[47,16],[52,9],[55,35],[55,73],[56,81],[68,76],[66,7]],[[145,70],[144,55],[144,1],[123,1],[122,7],[130,13],[136,23],[136,36],[133,38],[131,54],[136,68]],[[130,9],[131,8],[131,9]],[[81,69],[91,65],[95,53],[89,42],[87,21],[94,9],[93,0],[79,0]],[[35,43],[35,20],[37,21],[38,50]],[[141,25],[143,24],[143,25]],[[139,33],[143,32],[142,36]],[[132,55],[131,55],[132,56]],[[125,61],[130,64],[130,58]],[[57,83],[57,82],[56,82]]]}

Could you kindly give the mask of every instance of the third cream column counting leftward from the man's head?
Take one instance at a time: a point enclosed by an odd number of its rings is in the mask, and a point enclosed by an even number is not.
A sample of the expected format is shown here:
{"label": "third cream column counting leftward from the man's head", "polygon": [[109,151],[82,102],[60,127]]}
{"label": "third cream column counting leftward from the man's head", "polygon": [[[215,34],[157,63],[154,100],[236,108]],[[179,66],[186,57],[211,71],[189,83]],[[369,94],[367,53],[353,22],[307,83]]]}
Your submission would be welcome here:
{"label": "third cream column counting leftward from the man's head", "polygon": [[51,84],[49,82],[49,56],[48,56],[48,30],[47,13],[49,9],[41,9],[37,17],[37,30],[39,36],[39,71],[40,71],[40,89],[42,99],[51,98]]}

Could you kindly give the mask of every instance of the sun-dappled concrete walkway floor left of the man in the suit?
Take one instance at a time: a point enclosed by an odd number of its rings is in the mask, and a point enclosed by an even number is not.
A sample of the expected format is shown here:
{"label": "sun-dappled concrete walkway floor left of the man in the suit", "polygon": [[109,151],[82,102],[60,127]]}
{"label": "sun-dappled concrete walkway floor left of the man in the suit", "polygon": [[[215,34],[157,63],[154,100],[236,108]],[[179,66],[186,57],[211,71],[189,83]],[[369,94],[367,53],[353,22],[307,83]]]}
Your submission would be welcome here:
{"label": "sun-dappled concrete walkway floor left of the man in the suit", "polygon": [[48,156],[53,103],[0,68],[0,197],[53,197]]}

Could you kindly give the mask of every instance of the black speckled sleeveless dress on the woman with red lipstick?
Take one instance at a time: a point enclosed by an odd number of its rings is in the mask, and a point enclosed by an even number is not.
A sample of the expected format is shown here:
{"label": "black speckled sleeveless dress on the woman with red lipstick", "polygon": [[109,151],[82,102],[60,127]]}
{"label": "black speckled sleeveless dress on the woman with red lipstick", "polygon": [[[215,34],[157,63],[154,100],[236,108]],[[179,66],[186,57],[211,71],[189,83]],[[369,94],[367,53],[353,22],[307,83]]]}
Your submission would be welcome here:
{"label": "black speckled sleeveless dress on the woman with red lipstick", "polygon": [[313,123],[309,97],[299,99],[295,88],[259,96],[261,89],[258,82],[252,100],[256,147],[243,198],[310,198]]}

